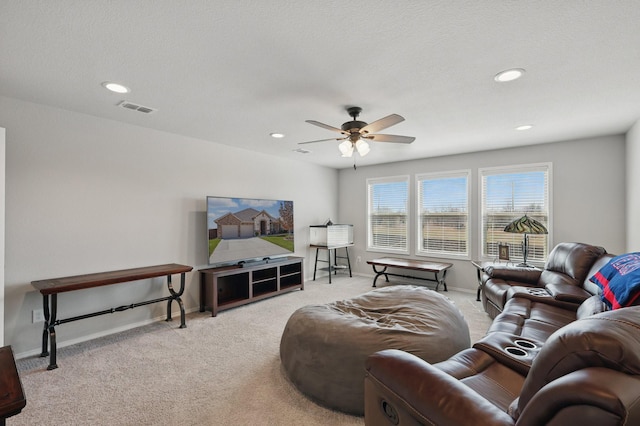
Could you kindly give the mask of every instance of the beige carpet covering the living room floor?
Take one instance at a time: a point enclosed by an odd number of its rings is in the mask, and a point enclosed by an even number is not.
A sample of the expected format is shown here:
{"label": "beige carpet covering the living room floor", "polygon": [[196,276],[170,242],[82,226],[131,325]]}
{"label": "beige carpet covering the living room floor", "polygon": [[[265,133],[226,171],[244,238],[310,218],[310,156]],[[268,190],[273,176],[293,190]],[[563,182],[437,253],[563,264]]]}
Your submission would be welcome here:
{"label": "beige carpet covering the living room floor", "polygon": [[[58,350],[60,368],[52,371],[48,358],[18,360],[27,406],[7,424],[363,425],[299,393],[281,371],[279,345],[296,309],[353,297],[372,290],[371,282],[324,277],[215,318],[189,314],[186,329],[162,321],[76,344]],[[443,294],[463,312],[472,341],[482,337],[490,319],[475,294]],[[64,339],[64,325],[57,330]]]}

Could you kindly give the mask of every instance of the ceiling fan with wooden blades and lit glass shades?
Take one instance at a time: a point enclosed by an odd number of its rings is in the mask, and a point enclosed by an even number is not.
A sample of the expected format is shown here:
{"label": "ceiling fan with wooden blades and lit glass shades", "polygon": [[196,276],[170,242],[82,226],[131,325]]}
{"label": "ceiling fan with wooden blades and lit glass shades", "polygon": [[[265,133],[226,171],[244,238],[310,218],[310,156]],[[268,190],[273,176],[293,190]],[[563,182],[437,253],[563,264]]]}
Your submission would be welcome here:
{"label": "ceiling fan with wooden blades and lit glass shades", "polygon": [[338,149],[342,153],[343,157],[351,157],[354,150],[357,151],[361,157],[364,157],[371,149],[367,141],[408,144],[416,140],[416,138],[411,136],[375,134],[380,130],[403,122],[404,117],[401,117],[398,114],[391,114],[381,118],[380,120],[374,121],[373,123],[367,124],[364,121],[358,121],[358,116],[361,112],[362,108],[360,107],[347,107],[347,113],[349,113],[353,120],[343,123],[340,129],[329,126],[328,124],[320,123],[319,121],[306,120],[309,124],[341,133],[343,136],[338,138],[320,139],[317,141],[299,142],[299,144],[303,145],[307,143],[326,142],[332,140],[343,141],[338,145]]}

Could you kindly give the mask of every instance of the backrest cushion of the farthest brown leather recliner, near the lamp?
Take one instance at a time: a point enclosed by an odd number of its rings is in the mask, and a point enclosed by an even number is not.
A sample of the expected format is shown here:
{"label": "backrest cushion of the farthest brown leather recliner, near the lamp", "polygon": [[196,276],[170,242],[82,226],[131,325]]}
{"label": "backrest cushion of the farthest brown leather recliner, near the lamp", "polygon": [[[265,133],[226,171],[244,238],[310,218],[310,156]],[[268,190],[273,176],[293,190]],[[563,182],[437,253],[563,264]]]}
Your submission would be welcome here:
{"label": "backrest cushion of the farthest brown leather recliner, near the lamp", "polygon": [[602,247],[589,244],[560,243],[549,253],[540,283],[582,286],[591,266],[606,252]]}

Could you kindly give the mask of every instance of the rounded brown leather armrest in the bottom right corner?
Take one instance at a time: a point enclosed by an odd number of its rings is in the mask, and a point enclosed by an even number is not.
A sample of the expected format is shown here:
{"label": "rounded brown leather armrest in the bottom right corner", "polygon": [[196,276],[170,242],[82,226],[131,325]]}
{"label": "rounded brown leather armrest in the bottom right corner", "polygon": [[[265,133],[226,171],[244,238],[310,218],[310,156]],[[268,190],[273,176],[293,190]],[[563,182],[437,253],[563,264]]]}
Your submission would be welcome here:
{"label": "rounded brown leather armrest in the bottom right corner", "polygon": [[518,426],[640,424],[640,379],[607,368],[574,371],[544,386],[529,401]]}

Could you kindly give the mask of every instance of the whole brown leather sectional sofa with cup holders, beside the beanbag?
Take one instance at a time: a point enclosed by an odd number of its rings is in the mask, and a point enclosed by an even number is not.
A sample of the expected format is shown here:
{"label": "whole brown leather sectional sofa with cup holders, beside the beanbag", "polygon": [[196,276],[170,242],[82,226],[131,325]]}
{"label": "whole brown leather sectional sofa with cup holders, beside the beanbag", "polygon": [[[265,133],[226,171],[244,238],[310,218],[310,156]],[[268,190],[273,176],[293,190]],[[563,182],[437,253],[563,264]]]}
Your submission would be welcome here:
{"label": "whole brown leather sectional sofa with cup holders, beside the beanbag", "polygon": [[612,257],[563,243],[544,270],[487,271],[487,335],[437,364],[369,357],[365,424],[640,424],[640,307],[607,311],[589,281]]}

